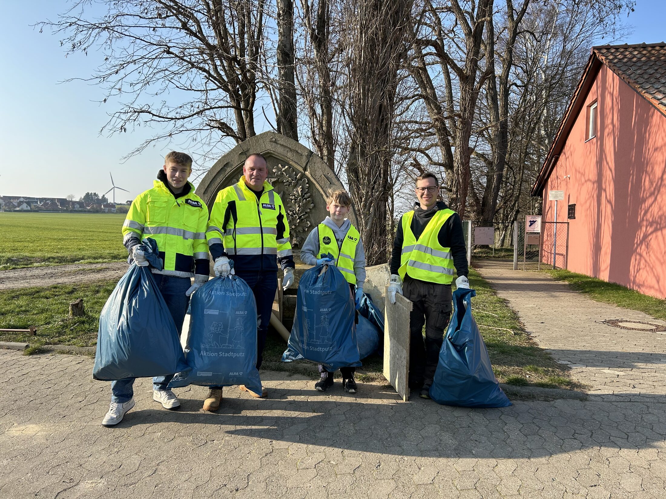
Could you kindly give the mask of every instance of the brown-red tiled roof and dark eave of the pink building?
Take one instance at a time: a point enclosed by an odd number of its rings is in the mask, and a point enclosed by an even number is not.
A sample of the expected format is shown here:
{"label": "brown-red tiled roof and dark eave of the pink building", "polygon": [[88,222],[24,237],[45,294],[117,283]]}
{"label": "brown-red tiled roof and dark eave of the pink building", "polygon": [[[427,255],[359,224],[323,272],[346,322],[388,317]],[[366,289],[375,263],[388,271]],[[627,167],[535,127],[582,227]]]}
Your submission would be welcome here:
{"label": "brown-red tiled roof and dark eave of the pink building", "polygon": [[592,47],[590,52],[583,76],[559,124],[541,172],[532,186],[532,196],[538,196],[543,191],[555,166],[555,160],[567,142],[575,118],[602,64],[666,115],[666,43],[599,45]]}

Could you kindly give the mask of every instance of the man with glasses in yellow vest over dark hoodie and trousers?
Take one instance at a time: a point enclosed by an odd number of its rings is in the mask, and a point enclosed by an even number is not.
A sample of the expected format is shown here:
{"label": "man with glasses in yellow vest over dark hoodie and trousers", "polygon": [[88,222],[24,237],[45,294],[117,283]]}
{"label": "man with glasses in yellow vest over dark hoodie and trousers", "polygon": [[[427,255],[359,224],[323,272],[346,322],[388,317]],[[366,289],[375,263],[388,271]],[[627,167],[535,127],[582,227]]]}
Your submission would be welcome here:
{"label": "man with glasses in yellow vest over dark hoodie and trousers", "polygon": [[[414,304],[410,314],[409,385],[430,399],[444,331],[451,316],[451,283],[470,287],[467,253],[460,216],[438,201],[437,177],[425,173],[416,179],[414,210],[400,218],[390,262],[388,297],[396,293]],[[424,343],[423,326],[426,325]]]}

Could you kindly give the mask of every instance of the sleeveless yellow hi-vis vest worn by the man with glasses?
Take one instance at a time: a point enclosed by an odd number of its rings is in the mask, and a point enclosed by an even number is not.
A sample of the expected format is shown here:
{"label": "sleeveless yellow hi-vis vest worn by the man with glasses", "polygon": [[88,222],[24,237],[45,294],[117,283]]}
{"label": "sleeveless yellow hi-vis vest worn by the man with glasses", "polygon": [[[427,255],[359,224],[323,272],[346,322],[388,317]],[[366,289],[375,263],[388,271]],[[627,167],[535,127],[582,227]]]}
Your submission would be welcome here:
{"label": "sleeveless yellow hi-vis vest worn by the man with glasses", "polygon": [[418,241],[412,232],[414,210],[402,216],[402,253],[400,255],[401,279],[409,275],[421,281],[450,284],[454,280],[454,261],[451,248],[440,245],[440,229],[454,213],[453,210],[440,210],[428,222]]}

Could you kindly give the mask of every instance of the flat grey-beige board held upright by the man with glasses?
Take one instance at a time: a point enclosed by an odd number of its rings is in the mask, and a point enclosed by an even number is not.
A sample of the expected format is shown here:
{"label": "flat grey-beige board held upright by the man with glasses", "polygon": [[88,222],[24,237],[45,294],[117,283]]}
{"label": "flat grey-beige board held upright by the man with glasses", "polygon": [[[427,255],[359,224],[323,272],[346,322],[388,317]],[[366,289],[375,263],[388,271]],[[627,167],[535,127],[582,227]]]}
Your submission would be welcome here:
{"label": "flat grey-beige board held upright by the man with glasses", "polygon": [[410,396],[410,312],[412,302],[396,294],[396,303],[384,303],[384,377],[405,402]]}

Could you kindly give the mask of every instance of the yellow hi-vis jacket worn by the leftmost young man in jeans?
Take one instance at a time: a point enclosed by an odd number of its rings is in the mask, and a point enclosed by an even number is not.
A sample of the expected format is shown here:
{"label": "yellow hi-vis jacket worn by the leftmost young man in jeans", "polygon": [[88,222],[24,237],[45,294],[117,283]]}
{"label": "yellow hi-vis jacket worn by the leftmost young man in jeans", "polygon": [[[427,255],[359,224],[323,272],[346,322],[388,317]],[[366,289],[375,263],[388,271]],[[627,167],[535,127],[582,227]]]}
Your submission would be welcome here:
{"label": "yellow hi-vis jacket worn by the leftmost young man in jeans", "polygon": [[164,263],[163,271],[153,269],[155,273],[194,277],[194,260],[208,259],[207,224],[208,207],[194,194],[192,184],[188,194],[176,199],[164,182],[155,180],[152,189],[132,202],[123,224],[123,243],[153,238]]}

